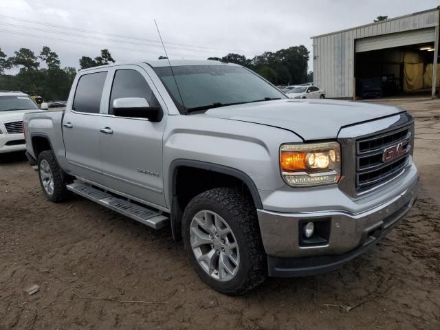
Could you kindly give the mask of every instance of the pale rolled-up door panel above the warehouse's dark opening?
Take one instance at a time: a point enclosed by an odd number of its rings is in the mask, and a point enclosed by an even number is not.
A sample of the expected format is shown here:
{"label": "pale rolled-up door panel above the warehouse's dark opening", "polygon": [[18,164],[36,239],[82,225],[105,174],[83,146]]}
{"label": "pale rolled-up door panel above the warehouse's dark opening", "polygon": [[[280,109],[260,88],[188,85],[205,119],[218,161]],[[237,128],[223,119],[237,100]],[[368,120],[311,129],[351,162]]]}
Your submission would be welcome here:
{"label": "pale rolled-up door panel above the warehouse's dark opening", "polygon": [[385,48],[415,45],[419,43],[433,43],[434,40],[435,28],[382,34],[381,36],[357,39],[355,52],[370,52],[371,50],[383,50]]}

